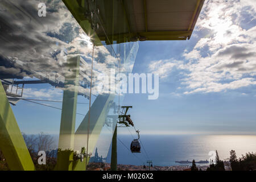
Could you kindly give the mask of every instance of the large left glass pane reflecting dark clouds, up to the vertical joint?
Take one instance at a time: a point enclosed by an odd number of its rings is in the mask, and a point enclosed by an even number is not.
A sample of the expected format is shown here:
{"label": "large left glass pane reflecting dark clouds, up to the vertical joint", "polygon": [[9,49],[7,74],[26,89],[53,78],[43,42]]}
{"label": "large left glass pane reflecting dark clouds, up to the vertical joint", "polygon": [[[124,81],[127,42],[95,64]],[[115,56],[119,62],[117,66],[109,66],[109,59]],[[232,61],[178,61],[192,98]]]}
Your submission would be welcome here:
{"label": "large left glass pane reflecting dark clouds, up to the vertical joint", "polygon": [[74,131],[89,110],[93,43],[62,1],[0,7],[3,88],[30,152],[54,150],[56,159],[57,148],[74,149]]}

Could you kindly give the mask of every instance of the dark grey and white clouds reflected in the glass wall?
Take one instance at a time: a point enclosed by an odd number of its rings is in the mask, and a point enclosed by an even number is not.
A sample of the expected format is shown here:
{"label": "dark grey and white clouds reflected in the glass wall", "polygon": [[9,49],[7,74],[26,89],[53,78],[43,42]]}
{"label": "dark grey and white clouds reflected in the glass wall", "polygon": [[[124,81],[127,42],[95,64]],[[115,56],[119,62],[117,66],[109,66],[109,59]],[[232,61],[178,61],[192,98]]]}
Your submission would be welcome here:
{"label": "dark grey and white clouds reflected in the glass wall", "polygon": [[[22,0],[16,0],[15,6],[9,1],[0,2],[0,24],[7,23],[5,27],[9,27],[9,29],[5,28],[8,34],[6,32],[1,34],[3,41],[0,43],[0,61],[9,59],[8,61],[15,62],[15,67],[11,68],[1,65],[0,72],[12,73],[19,78],[44,77],[64,83],[65,76],[73,73],[73,69],[69,69],[64,64],[67,57],[69,59],[73,56],[81,56],[79,81],[83,84],[77,89],[80,93],[89,96],[93,52],[89,36],[85,34],[62,1],[46,3],[47,18],[40,18],[37,15],[39,2],[40,0],[24,3]],[[7,10],[13,13],[6,13]],[[24,18],[20,19],[20,16]],[[109,75],[110,68],[120,68],[120,71],[125,73],[133,69],[135,56],[128,57],[126,64],[118,67],[117,57],[113,56],[108,48],[110,45],[94,48],[93,80],[96,80],[100,73]],[[138,49],[135,50],[134,46],[132,48],[133,53],[137,53]],[[96,84],[97,82],[94,82],[93,85],[97,87]],[[69,85],[68,89],[73,90],[75,86]],[[95,89],[92,90],[94,92]],[[48,98],[51,97],[48,91],[51,90],[31,90],[28,96]]]}

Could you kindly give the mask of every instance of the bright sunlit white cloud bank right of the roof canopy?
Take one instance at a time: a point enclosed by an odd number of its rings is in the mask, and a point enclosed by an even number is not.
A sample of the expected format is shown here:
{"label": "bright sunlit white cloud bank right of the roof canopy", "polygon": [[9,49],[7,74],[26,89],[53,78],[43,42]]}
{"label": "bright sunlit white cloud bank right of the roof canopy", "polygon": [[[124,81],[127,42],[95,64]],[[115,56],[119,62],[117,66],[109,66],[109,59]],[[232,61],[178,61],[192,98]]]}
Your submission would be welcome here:
{"label": "bright sunlit white cloud bank right of the roof canopy", "polygon": [[[209,32],[193,47],[184,50],[183,64],[189,71],[181,80],[187,91],[225,92],[256,85],[256,1],[207,1],[197,22],[197,31]],[[247,20],[250,28],[242,21]],[[186,62],[186,63],[185,63]],[[172,65],[174,67],[175,65]]]}

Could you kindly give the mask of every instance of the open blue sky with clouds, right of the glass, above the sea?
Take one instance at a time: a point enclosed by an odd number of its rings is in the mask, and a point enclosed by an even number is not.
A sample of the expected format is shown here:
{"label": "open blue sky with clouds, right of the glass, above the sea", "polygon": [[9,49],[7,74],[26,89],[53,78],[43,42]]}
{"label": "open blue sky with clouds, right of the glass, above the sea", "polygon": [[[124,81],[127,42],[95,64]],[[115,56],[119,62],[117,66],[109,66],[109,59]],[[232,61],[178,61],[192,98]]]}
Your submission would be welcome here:
{"label": "open blue sky with clouds, right of the glass, above the sea", "polygon": [[139,42],[133,72],[160,80],[158,100],[126,95],[137,128],[256,134],[255,40],[256,1],[205,1],[190,40]]}

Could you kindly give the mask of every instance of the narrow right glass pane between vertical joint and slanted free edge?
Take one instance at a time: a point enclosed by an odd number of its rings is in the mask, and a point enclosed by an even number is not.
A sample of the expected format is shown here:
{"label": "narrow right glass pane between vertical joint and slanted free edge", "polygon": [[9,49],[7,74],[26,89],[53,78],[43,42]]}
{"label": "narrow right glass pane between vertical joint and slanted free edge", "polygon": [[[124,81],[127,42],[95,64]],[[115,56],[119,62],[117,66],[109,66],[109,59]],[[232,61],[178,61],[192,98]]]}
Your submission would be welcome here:
{"label": "narrow right glass pane between vertical joint and slanted free edge", "polygon": [[[119,43],[127,39],[121,32],[128,27],[121,1],[97,1],[97,7],[100,12],[96,13],[94,24],[97,27],[97,35],[105,36],[105,41],[101,42],[102,46],[95,47],[92,92],[95,92],[98,98],[102,97],[98,103],[106,104],[106,107],[102,121],[90,120],[90,130],[93,130],[94,135],[89,137],[89,152],[93,155],[90,162],[105,162],[125,95],[120,93],[122,90],[119,89],[121,85],[118,75],[123,73],[127,77],[132,71],[138,43]],[[115,24],[118,24],[118,28],[113,27]],[[103,98],[109,99],[107,103]],[[93,125],[99,124],[101,127],[96,131]]]}

